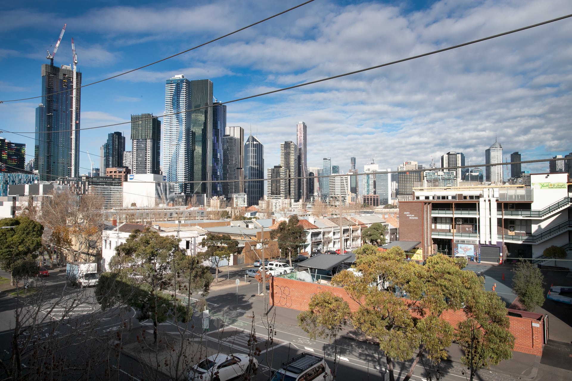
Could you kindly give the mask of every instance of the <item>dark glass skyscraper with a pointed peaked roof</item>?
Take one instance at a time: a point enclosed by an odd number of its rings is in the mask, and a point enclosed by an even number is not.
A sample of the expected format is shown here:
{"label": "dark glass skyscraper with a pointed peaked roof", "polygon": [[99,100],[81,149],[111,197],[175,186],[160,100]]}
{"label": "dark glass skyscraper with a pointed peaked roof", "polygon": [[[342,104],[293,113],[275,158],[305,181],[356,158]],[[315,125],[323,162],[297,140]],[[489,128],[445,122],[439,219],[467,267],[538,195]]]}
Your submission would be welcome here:
{"label": "dark glass skyscraper with a pointed peaked roof", "polygon": [[247,181],[244,186],[248,206],[258,205],[264,197],[264,146],[252,134],[244,144],[244,177],[247,180],[260,179]]}

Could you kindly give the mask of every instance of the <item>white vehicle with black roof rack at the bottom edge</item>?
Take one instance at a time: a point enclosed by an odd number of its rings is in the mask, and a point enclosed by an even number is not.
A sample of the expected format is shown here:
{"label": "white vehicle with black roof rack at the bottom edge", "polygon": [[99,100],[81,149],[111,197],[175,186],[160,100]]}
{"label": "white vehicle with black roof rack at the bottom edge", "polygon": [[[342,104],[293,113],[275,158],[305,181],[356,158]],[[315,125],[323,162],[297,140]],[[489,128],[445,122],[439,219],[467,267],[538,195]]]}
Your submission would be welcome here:
{"label": "white vehicle with black roof rack at the bottom edge", "polygon": [[271,381],[332,381],[332,371],[323,357],[302,352],[282,364],[272,375]]}

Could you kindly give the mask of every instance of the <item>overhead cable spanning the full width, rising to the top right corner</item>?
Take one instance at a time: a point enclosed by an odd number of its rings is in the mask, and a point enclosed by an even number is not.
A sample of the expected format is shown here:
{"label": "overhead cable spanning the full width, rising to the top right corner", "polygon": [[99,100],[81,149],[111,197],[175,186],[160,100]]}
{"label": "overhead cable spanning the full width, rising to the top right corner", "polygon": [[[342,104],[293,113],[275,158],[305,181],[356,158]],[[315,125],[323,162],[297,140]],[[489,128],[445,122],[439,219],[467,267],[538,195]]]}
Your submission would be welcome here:
{"label": "overhead cable spanning the full width, rising to the top right corner", "polygon": [[[472,45],[474,43],[477,42],[483,42],[483,41],[487,41],[493,38],[497,38],[497,37],[502,37],[508,34],[512,34],[512,33],[517,33],[519,31],[523,31],[523,30],[527,30],[527,29],[531,29],[537,26],[542,26],[542,25],[546,25],[552,22],[556,22],[556,21],[560,21],[566,18],[572,17],[572,14],[566,15],[566,16],[562,16],[562,17],[558,17],[558,18],[554,18],[548,21],[543,21],[534,25],[529,25],[529,26],[525,26],[522,28],[518,28],[518,29],[513,29],[510,31],[506,31],[503,33],[499,33],[499,34],[495,34],[495,35],[491,35],[488,37],[484,37],[484,38],[479,38],[479,39],[475,39],[473,41],[469,41],[469,42],[464,42],[461,43],[459,45],[453,45],[453,46],[449,46],[443,49],[438,49],[438,50],[434,50],[434,51],[430,51],[428,53],[423,53],[423,54],[419,54],[419,55],[414,55],[412,57],[408,57],[408,58],[402,58],[402,59],[398,59],[397,61],[391,61],[391,62],[387,62],[387,63],[382,63],[381,65],[376,65],[376,66],[371,66],[371,67],[366,67],[366,69],[360,69],[360,70],[355,70],[355,71],[349,71],[348,73],[344,73],[344,74],[338,74],[338,75],[333,75],[332,77],[327,77],[327,78],[321,78],[321,79],[316,79],[316,81],[311,81],[311,82],[304,82],[304,83],[300,83],[299,85],[293,85],[293,86],[288,86],[288,87],[283,87],[281,89],[276,89],[276,90],[272,90],[272,91],[266,91],[265,93],[259,93],[259,94],[255,94],[255,95],[249,95],[248,97],[243,97],[243,98],[237,98],[237,99],[232,99],[232,101],[226,101],[226,102],[221,102],[220,104],[222,105],[227,105],[228,103],[233,103],[233,102],[240,102],[240,101],[245,101],[247,99],[252,99],[252,98],[257,98],[257,97],[262,97],[264,95],[269,95],[269,94],[275,94],[275,93],[280,93],[281,91],[285,91],[285,90],[292,90],[292,89],[297,89],[298,87],[303,87],[303,86],[308,86],[308,85],[314,85],[315,83],[320,83],[320,82],[325,82],[325,81],[329,81],[331,79],[336,79],[336,78],[341,78],[341,77],[347,77],[348,75],[353,75],[353,74],[358,74],[358,73],[364,73],[365,71],[369,71],[369,70],[374,70],[374,69],[379,69],[380,67],[384,67],[384,66],[390,66],[390,65],[395,65],[396,63],[401,63],[401,62],[406,62],[406,61],[411,61],[413,59],[417,59],[417,58],[422,58],[422,57],[427,57],[428,55],[432,55],[432,54],[437,54],[437,53],[442,53],[444,51],[447,50],[453,50],[453,49],[457,49],[459,47],[463,47],[463,46],[467,46],[467,45]],[[34,98],[38,98],[38,97],[34,97]],[[25,98],[25,99],[33,99],[33,98]],[[19,100],[24,100],[24,99],[19,99]],[[177,111],[176,113],[167,113],[167,114],[162,114],[162,115],[156,115],[153,118],[146,118],[146,119],[139,119],[139,121],[147,121],[150,119],[154,119],[154,118],[164,118],[164,117],[169,117],[171,115],[177,115],[177,114],[182,114],[182,113],[189,113],[190,111],[197,111],[197,110],[203,110],[203,109],[208,109],[209,107],[213,107],[212,105],[209,106],[202,106],[202,107],[196,107],[195,109],[189,109],[189,110],[182,110],[182,111]],[[110,125],[104,125],[104,126],[96,126],[96,127],[86,127],[80,130],[94,130],[94,129],[102,129],[105,127],[114,127],[114,126],[122,126],[122,125],[126,125],[128,123],[131,122],[121,122],[121,123],[113,123]],[[7,131],[4,130],[7,133],[11,133],[11,131]],[[42,133],[51,133],[51,132],[69,132],[72,130],[59,130],[59,131],[42,131],[42,132],[38,132],[40,134]],[[36,132],[21,132],[21,134],[36,134]]]}

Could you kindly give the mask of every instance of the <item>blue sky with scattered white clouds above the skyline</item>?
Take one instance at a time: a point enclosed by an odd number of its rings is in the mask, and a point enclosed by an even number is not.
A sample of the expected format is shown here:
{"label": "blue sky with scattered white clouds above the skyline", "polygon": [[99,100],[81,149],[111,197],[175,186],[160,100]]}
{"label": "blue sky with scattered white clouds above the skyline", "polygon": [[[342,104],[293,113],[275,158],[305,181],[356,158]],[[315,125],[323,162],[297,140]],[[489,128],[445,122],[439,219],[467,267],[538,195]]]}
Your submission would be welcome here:
{"label": "blue sky with scattered white clouds above the skyline", "polygon": [[[40,68],[70,65],[71,38],[82,81],[99,81],[247,26],[302,0],[0,0],[0,137],[33,155]],[[570,0],[315,0],[260,25],[134,73],[81,90],[81,127],[162,115],[165,80],[210,79],[220,102],[315,81],[572,14]],[[227,125],[252,131],[265,166],[279,165],[280,143],[308,126],[308,166],[332,158],[346,173],[372,159],[439,163],[448,151],[484,163],[495,139],[503,156],[523,160],[572,151],[572,18],[281,93],[227,105]],[[7,133],[14,131],[26,137]],[[99,166],[107,134],[129,123],[82,131],[81,151]],[[27,138],[29,137],[29,138]],[[80,173],[90,161],[80,154]],[[542,173],[548,163],[523,165]]]}

